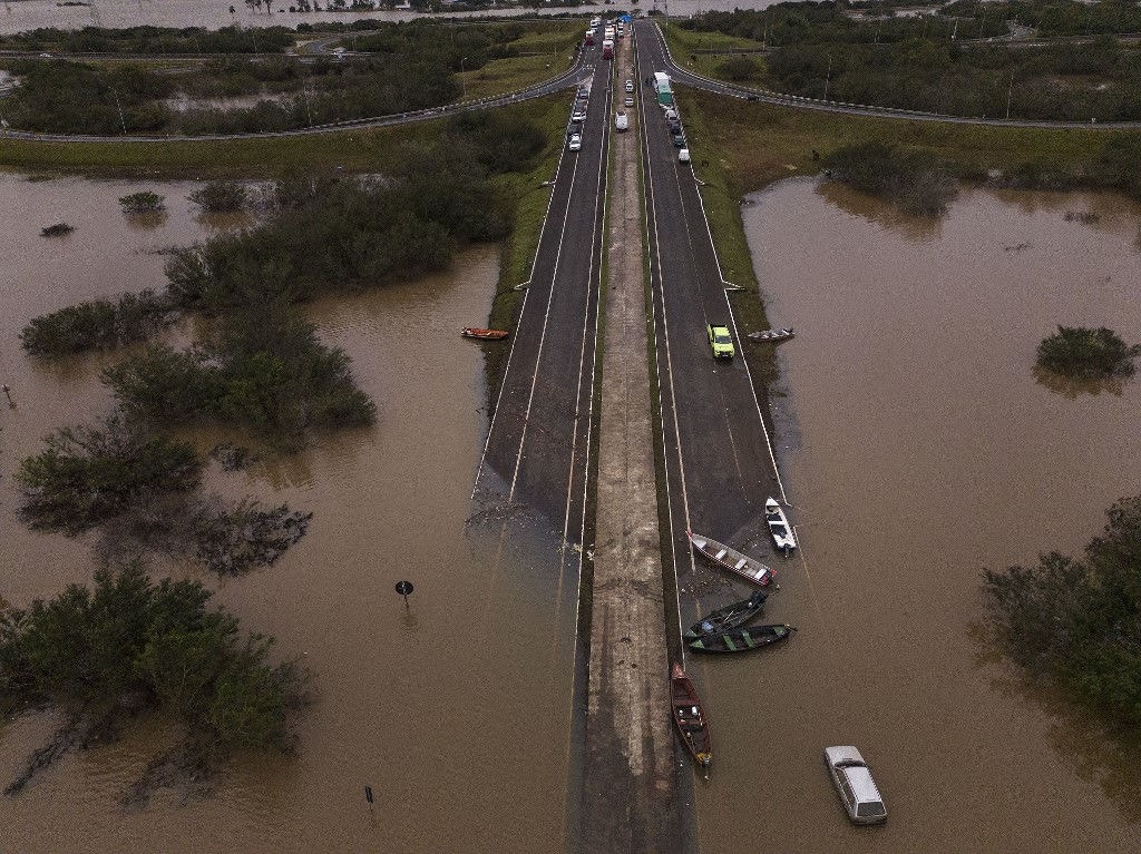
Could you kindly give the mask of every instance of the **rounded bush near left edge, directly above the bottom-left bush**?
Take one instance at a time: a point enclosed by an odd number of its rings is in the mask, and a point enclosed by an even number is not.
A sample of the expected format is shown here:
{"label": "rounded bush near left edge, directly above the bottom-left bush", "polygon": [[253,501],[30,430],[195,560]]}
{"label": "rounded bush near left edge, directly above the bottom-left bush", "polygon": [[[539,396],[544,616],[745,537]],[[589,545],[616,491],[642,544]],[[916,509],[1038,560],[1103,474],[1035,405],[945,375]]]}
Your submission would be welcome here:
{"label": "rounded bush near left edge, directly above the bottom-left bush", "polygon": [[114,415],[102,426],[64,428],[16,473],[33,527],[79,534],[149,495],[197,487],[202,461],[186,442],[143,433]]}

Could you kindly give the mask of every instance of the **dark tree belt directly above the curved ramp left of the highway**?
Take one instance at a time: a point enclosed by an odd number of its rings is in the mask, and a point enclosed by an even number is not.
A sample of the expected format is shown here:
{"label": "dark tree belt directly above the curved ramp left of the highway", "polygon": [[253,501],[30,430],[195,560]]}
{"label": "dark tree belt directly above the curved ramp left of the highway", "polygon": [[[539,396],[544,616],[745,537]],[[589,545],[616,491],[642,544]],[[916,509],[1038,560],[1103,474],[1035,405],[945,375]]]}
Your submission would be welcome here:
{"label": "dark tree belt directly above the curved ramp left of the highway", "polygon": [[[249,31],[244,31],[249,32]],[[260,33],[261,31],[259,31]],[[282,57],[218,58],[161,73],[136,63],[14,59],[18,84],[5,99],[13,128],[41,133],[240,133],[391,115],[455,100],[456,72],[472,71],[517,51],[523,26],[443,27],[424,22],[386,24],[361,36],[379,52],[311,63]],[[193,99],[260,97],[248,107],[215,107]],[[192,99],[179,109],[169,99]]]}

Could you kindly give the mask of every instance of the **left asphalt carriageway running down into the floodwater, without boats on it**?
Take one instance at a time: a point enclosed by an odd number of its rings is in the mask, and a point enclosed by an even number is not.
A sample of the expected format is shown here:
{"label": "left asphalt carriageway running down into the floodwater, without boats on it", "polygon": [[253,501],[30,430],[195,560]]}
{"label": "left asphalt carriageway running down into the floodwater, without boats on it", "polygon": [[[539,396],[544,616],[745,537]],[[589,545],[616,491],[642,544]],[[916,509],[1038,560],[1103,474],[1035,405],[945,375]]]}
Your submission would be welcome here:
{"label": "left asphalt carriageway running down into the floodwater, without boats on it", "polygon": [[[592,74],[582,149],[563,156],[476,478],[482,502],[526,504],[581,544],[594,387],[609,63]],[[567,98],[569,119],[573,96]]]}

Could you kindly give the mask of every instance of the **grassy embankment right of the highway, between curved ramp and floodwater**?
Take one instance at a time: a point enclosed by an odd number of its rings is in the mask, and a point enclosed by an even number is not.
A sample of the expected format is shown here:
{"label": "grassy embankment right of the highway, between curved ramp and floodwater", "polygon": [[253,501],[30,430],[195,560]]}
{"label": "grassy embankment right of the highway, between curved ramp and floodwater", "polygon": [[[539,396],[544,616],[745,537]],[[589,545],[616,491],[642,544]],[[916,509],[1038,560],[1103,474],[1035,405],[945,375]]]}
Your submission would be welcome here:
{"label": "grassy embankment right of the highway, between curved ramp and floodwater", "polygon": [[[782,178],[816,174],[832,152],[856,141],[881,141],[934,155],[963,179],[1055,176],[1077,180],[1102,152],[1108,135],[1094,129],[1045,130],[876,119],[723,98],[682,88],[675,93],[721,260],[722,275],[745,288],[733,296],[741,332],[768,328],[745,239],[742,197]],[[820,155],[814,161],[812,152]],[[742,342],[754,380],[776,376],[771,345]]]}

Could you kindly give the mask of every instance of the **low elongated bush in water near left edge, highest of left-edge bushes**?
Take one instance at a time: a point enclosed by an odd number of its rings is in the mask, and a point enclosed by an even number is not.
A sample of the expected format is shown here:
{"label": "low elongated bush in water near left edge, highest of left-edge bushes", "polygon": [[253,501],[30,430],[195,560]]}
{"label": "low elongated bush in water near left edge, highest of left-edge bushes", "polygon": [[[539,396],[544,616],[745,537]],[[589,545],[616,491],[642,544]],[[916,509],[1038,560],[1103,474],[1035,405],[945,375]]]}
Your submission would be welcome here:
{"label": "low elongated bush in water near left edge, highest of left-edge bushes", "polygon": [[30,353],[60,356],[141,341],[171,319],[169,299],[147,290],[115,302],[94,300],[42,315],[19,337]]}

